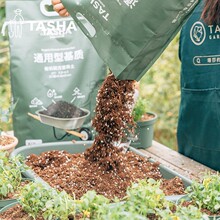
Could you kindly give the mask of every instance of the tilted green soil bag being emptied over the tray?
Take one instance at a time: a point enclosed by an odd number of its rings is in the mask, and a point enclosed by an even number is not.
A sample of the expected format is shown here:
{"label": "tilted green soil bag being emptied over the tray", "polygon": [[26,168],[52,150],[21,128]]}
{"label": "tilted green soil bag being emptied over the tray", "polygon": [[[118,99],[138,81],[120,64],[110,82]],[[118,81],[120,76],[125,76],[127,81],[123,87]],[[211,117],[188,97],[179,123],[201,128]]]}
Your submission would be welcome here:
{"label": "tilted green soil bag being emptied over the tray", "polygon": [[[62,0],[118,79],[140,80],[199,0]],[[82,22],[81,17],[87,22]]]}

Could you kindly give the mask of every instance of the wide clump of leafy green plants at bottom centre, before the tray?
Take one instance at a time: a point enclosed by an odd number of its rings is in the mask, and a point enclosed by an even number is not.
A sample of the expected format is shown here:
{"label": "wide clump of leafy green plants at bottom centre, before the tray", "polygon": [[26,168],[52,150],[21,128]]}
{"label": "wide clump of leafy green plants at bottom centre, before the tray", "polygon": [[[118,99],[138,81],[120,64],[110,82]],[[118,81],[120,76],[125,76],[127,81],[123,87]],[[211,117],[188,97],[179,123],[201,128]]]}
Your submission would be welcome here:
{"label": "wide clump of leafy green plants at bottom centre, before the tray", "polygon": [[160,182],[153,179],[133,183],[123,201],[116,198],[110,203],[96,192],[88,192],[81,198],[80,210],[84,214],[83,219],[91,220],[208,219],[195,206],[178,206],[166,200],[165,194],[160,189]]}

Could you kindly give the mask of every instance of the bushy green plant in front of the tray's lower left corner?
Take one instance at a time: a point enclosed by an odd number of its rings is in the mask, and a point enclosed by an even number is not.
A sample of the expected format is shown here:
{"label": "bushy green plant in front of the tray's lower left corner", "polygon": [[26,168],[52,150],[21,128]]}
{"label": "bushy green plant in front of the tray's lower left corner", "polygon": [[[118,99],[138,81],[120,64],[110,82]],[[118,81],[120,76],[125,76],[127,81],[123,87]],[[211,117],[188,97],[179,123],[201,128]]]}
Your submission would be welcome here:
{"label": "bushy green plant in front of the tray's lower left corner", "polygon": [[68,219],[75,215],[75,200],[66,192],[59,192],[42,183],[29,183],[20,191],[19,203],[32,218],[42,215],[44,219]]}

